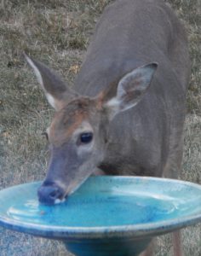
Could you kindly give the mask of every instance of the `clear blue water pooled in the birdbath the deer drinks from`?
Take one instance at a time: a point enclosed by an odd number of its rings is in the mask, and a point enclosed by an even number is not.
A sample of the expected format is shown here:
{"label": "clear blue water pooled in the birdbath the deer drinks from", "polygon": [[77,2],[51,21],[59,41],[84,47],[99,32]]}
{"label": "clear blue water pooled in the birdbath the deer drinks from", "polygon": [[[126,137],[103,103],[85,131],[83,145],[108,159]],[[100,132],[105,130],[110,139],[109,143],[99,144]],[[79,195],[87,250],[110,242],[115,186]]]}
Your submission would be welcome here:
{"label": "clear blue water pooled in the birdbath the deer drinks from", "polygon": [[13,203],[7,216],[24,223],[97,227],[127,224],[149,224],[175,218],[177,206],[167,198],[147,195],[108,195],[100,191],[95,195],[72,195],[55,206],[43,206],[37,199]]}

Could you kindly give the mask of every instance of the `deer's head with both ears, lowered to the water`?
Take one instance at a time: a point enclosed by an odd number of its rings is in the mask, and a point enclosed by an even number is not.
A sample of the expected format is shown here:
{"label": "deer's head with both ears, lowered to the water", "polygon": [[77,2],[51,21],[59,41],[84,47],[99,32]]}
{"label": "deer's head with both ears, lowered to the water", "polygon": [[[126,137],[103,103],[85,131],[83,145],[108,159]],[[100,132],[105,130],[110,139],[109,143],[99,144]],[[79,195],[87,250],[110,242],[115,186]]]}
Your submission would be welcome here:
{"label": "deer's head with both ears, lowered to the water", "polygon": [[126,73],[95,97],[80,96],[53,71],[26,55],[55,117],[47,129],[50,160],[38,189],[42,203],[64,201],[104,160],[108,127],[114,116],[133,108],[146,92],[157,64]]}

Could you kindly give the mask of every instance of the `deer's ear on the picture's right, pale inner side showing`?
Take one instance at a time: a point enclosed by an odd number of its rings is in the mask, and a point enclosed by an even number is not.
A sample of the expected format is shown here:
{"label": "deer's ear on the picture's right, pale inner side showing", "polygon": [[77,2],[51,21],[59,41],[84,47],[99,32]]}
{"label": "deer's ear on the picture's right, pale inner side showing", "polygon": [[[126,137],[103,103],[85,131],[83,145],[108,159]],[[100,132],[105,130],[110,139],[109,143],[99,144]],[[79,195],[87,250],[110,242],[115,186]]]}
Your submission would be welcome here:
{"label": "deer's ear on the picture's right, pale inner side showing", "polygon": [[120,79],[116,96],[105,102],[109,119],[112,119],[119,112],[134,107],[141,101],[142,96],[151,84],[153,73],[157,67],[157,63],[147,64],[146,66],[134,69]]}

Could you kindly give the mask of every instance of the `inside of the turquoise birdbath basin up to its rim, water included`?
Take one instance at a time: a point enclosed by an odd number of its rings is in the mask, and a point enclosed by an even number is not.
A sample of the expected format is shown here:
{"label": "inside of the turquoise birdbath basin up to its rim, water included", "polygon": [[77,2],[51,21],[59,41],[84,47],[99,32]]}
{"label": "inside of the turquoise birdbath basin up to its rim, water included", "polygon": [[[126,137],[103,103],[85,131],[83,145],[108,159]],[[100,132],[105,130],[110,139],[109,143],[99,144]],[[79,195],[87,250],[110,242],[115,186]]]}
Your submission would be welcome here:
{"label": "inside of the turquoise birdbath basin up to its rim, water included", "polygon": [[39,185],[26,183],[0,191],[0,224],[110,227],[181,220],[201,211],[199,187],[166,179],[91,177],[55,206],[38,203]]}

